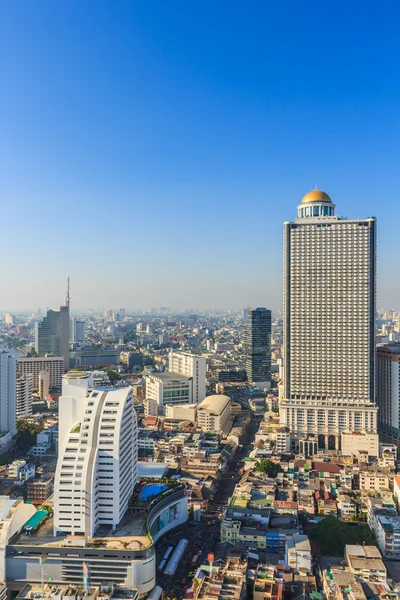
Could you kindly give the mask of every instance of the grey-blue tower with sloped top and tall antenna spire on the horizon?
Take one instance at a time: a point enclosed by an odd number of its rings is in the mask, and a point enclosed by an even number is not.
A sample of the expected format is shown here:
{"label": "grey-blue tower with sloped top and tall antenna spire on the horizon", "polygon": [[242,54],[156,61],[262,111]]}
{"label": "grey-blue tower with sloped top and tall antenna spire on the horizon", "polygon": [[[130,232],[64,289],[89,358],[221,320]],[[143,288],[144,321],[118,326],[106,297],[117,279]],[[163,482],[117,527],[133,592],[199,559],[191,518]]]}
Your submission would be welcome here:
{"label": "grey-blue tower with sloped top and tall antenna spire on the horizon", "polygon": [[59,310],[48,310],[42,321],[35,324],[35,350],[39,356],[62,356],[69,369],[69,278],[65,302]]}

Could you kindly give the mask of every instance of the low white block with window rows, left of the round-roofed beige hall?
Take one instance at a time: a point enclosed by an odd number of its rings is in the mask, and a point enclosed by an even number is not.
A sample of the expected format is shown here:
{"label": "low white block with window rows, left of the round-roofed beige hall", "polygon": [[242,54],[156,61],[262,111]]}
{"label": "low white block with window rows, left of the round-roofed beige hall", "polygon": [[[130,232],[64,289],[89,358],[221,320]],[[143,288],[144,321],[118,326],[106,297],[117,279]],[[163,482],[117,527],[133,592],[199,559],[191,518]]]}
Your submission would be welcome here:
{"label": "low white block with window rows, left of the round-roofed beige hall", "polygon": [[[168,404],[193,403],[193,379],[177,373],[146,375],[146,400],[157,403],[157,414],[165,414]],[[154,408],[154,402],[150,403]],[[149,413],[150,414],[150,413]]]}

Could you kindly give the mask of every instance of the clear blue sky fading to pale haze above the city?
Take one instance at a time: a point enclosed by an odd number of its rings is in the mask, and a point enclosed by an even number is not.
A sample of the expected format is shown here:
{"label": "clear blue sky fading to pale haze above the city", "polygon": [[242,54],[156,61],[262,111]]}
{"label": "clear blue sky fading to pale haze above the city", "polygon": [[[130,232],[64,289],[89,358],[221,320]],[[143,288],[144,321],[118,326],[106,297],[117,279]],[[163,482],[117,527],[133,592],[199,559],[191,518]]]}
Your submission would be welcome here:
{"label": "clear blue sky fading to pale haze above the city", "polygon": [[3,0],[0,308],[281,305],[318,185],[400,310],[398,2]]}

